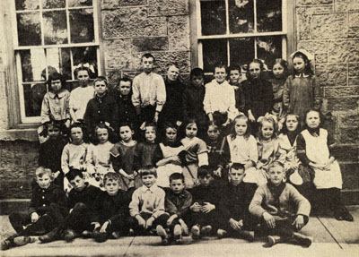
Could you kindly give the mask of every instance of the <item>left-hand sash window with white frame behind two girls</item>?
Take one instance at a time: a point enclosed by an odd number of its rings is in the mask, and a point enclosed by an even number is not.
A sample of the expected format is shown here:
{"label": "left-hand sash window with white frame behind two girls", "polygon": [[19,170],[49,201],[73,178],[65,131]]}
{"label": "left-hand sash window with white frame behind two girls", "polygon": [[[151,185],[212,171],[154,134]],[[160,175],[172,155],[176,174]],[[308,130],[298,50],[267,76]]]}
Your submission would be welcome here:
{"label": "left-hand sash window with white frame behind two girls", "polygon": [[13,46],[22,123],[39,122],[45,81],[62,73],[66,88],[74,69],[88,64],[97,75],[99,39],[96,0],[13,0]]}

